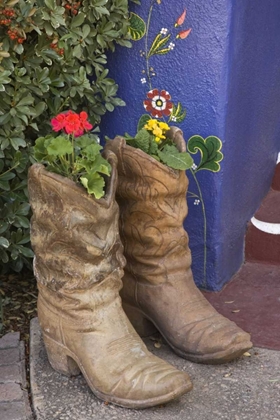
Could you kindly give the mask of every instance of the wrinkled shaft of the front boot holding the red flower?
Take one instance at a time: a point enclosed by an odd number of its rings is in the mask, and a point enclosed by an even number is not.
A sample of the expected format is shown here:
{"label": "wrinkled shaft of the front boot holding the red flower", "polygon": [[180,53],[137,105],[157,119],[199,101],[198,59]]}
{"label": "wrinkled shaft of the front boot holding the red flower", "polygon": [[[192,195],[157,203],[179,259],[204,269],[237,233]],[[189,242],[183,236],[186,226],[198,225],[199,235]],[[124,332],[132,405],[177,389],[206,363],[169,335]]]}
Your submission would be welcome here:
{"label": "wrinkled shaft of the front boot holding the red flower", "polygon": [[34,271],[38,282],[53,291],[89,288],[116,270],[122,273],[116,159],[109,156],[112,173],[99,200],[40,164],[29,170]]}

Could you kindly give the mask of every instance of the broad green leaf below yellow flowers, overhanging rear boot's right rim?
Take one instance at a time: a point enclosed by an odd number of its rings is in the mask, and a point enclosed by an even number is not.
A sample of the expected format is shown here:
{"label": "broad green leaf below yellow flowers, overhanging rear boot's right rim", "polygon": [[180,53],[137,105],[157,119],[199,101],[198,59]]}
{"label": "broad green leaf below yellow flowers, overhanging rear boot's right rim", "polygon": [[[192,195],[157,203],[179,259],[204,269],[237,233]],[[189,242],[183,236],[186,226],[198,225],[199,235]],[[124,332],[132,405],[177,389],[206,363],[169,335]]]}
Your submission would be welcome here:
{"label": "broad green leaf below yellow flowers, overhanging rear boot's right rim", "polygon": [[193,159],[187,152],[180,152],[175,145],[165,145],[158,151],[160,160],[173,169],[186,170],[193,165]]}

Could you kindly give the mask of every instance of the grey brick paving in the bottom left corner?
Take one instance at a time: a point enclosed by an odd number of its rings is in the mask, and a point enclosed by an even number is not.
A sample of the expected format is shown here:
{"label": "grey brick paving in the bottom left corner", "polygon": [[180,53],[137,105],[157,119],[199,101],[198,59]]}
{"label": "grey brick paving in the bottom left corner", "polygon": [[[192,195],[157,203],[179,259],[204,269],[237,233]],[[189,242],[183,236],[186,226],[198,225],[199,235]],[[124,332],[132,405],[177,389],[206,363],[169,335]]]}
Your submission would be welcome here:
{"label": "grey brick paving in the bottom left corner", "polygon": [[24,344],[19,332],[0,339],[0,419],[32,419],[25,376]]}

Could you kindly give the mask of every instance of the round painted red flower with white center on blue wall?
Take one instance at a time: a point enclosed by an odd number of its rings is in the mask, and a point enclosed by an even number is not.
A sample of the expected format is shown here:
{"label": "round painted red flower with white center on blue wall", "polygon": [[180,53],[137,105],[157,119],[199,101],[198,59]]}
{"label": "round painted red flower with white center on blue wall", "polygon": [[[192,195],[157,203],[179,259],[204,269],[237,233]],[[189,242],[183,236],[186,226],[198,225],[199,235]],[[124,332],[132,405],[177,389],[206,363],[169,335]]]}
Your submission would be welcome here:
{"label": "round painted red flower with white center on blue wall", "polygon": [[166,90],[150,90],[147,93],[147,98],[144,101],[144,107],[153,117],[161,118],[164,115],[168,117],[171,114],[173,104],[170,101],[171,96]]}

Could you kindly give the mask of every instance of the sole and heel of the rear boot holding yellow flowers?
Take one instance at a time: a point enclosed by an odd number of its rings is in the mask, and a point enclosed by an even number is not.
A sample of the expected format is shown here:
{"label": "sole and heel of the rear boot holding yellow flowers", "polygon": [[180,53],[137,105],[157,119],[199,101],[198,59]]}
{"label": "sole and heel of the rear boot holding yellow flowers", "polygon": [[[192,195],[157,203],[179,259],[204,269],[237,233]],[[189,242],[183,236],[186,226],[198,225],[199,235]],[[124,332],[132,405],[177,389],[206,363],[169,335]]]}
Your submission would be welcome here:
{"label": "sole and heel of the rear boot holding yellow flowers", "polygon": [[[253,344],[251,341],[244,343],[242,346],[233,346],[230,350],[222,350],[220,352],[211,353],[211,354],[202,354],[197,355],[193,353],[187,353],[176,346],[174,346],[166,337],[166,335],[161,331],[161,329],[157,326],[157,324],[152,321],[146,314],[144,314],[141,309],[136,308],[132,305],[127,303],[123,303],[123,309],[127,314],[129,320],[131,321],[132,325],[134,326],[135,330],[141,337],[147,337],[152,335],[155,331],[151,326],[145,324],[145,321],[150,322],[157,331],[163,336],[164,340],[167,344],[172,348],[172,350],[178,354],[178,356],[182,357],[183,359],[189,360],[195,363],[201,364],[209,364],[209,365],[219,365],[223,363],[230,362],[238,357],[242,356],[247,350],[252,348]],[[133,314],[133,315],[132,315]],[[144,332],[144,328],[146,328],[147,334]]]}

